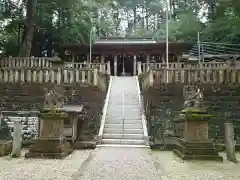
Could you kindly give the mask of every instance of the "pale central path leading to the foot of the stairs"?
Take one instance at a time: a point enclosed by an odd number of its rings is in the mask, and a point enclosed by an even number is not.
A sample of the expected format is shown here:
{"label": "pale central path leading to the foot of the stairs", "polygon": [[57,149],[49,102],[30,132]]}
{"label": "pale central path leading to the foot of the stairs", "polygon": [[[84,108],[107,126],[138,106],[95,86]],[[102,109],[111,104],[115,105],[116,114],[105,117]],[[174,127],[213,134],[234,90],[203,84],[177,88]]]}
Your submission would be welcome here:
{"label": "pale central path leading to the foot of the stairs", "polygon": [[148,148],[101,147],[75,174],[75,180],[161,180]]}

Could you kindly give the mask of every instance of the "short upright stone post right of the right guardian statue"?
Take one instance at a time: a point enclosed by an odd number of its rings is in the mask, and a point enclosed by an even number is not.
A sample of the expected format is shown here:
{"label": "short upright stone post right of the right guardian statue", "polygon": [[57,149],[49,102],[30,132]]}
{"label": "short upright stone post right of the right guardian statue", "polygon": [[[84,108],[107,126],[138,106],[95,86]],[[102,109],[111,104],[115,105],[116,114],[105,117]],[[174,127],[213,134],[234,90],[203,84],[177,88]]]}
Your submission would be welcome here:
{"label": "short upright stone post right of the right guardian statue", "polygon": [[227,160],[237,162],[235,155],[235,142],[234,142],[234,127],[231,120],[227,120],[225,123],[225,146],[227,153]]}

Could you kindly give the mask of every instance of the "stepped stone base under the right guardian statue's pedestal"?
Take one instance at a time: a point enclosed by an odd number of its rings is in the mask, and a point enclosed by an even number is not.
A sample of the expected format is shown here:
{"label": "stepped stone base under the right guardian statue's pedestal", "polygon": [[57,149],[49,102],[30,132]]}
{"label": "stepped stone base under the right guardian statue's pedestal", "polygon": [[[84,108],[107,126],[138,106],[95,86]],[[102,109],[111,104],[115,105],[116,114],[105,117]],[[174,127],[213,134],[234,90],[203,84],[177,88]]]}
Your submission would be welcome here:
{"label": "stepped stone base under the right guardian statue's pedestal", "polygon": [[178,139],[173,151],[183,160],[223,161],[223,158],[218,155],[218,151],[211,140],[186,141]]}

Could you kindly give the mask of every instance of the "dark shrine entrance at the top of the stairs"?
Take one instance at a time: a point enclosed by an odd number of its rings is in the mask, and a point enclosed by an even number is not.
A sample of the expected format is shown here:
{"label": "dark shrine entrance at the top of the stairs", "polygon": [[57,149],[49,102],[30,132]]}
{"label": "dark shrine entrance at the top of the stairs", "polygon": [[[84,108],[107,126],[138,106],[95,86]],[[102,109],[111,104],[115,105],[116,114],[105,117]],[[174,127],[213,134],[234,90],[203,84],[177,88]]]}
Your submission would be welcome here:
{"label": "dark shrine entrance at the top of the stairs", "polygon": [[134,60],[133,55],[120,55],[117,59],[117,75],[133,76]]}

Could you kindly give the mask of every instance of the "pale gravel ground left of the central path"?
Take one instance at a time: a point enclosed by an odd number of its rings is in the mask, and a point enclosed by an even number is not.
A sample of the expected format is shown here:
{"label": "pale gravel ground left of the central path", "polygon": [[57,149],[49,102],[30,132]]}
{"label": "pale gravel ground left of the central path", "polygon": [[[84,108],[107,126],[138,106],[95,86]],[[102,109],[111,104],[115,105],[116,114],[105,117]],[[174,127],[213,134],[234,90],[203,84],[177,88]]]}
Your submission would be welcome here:
{"label": "pale gravel ground left of the central path", "polygon": [[91,151],[75,151],[63,160],[0,158],[0,180],[71,180]]}

